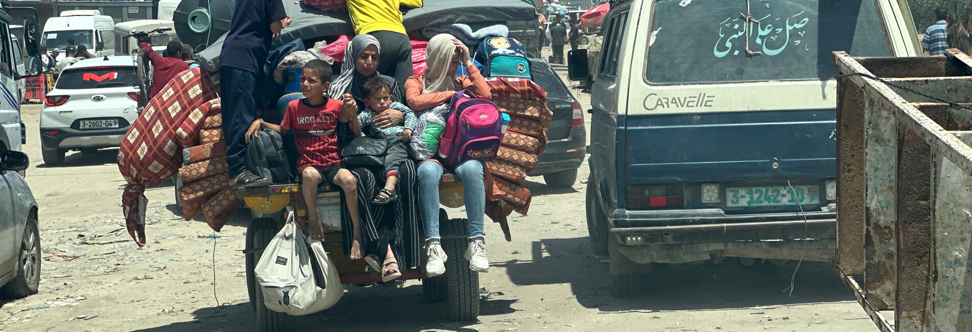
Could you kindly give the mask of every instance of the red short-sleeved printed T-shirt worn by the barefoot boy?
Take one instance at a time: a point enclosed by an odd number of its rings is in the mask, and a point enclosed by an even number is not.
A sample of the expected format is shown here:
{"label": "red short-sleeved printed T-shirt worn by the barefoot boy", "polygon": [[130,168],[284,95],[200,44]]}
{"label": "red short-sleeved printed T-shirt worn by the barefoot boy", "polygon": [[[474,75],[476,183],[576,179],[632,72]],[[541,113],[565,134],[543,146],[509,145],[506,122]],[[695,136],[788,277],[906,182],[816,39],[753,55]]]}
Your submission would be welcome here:
{"label": "red short-sleeved printed T-shirt worn by the barefoot boy", "polygon": [[280,126],[294,129],[297,152],[297,170],[307,166],[328,167],[337,164],[337,115],[341,112],[341,102],[330,99],[322,106],[307,105],[301,98],[287,105],[287,113]]}

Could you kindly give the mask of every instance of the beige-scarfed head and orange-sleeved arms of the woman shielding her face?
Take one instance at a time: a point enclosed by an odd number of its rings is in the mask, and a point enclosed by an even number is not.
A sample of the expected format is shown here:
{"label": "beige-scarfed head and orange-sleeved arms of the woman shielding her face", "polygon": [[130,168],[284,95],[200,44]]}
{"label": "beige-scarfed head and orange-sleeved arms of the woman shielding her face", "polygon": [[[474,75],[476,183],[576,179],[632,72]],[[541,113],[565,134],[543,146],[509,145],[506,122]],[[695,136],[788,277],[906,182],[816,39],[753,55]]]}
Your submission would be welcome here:
{"label": "beige-scarfed head and orange-sleeved arms of the woman shielding her face", "polygon": [[[462,63],[469,76],[456,77]],[[456,91],[469,89],[479,98],[489,99],[489,85],[472,64],[469,48],[449,34],[439,34],[426,47],[424,76],[413,76],[405,82],[405,101],[415,111],[447,104]]]}

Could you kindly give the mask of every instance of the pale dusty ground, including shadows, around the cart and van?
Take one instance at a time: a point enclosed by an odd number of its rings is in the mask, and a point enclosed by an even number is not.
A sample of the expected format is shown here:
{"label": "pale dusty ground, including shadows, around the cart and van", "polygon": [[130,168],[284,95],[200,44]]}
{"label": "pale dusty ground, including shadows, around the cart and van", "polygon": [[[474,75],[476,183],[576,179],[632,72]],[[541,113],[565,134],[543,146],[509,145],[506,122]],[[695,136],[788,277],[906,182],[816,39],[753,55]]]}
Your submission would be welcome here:
{"label": "pale dusty ground, including shadows, around the cart and van", "polygon": [[[582,103],[589,105],[586,98]],[[65,166],[47,167],[39,111],[38,105],[23,108],[24,151],[32,159],[26,179],[40,204],[47,257],[43,281],[39,294],[0,307],[0,330],[254,330],[241,252],[248,216],[238,215],[214,242],[204,222],[174,213],[173,188],[166,183],[146,193],[149,246],[136,248],[122,230],[117,149],[73,152]],[[795,262],[767,274],[727,259],[684,272],[655,269],[646,295],[611,297],[607,257],[594,255],[586,238],[586,163],[579,173],[573,189],[529,179],[533,209],[530,216],[512,218],[512,242],[488,222],[493,264],[480,284],[496,293],[482,301],[478,321],[449,321],[444,304],[424,303],[419,282],[405,282],[349,286],[335,307],[292,317],[286,325],[295,331],[387,332],[876,330],[823,263],[800,266],[792,296],[782,290]]]}

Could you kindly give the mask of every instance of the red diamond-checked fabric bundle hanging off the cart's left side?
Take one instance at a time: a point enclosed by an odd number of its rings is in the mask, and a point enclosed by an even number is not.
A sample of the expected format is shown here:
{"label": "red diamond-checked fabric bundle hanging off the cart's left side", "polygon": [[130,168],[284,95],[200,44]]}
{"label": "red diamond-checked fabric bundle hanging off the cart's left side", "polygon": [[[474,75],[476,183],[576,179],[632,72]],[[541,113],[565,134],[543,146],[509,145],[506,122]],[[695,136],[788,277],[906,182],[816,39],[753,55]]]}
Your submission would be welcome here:
{"label": "red diamond-checked fabric bundle hanging off the cart's left side", "polygon": [[145,246],[145,187],[168,180],[179,169],[180,125],[200,105],[216,98],[215,86],[204,73],[202,68],[193,68],[162,87],[121,142],[119,171],[128,182],[121,194],[121,209],[128,234],[138,247]]}

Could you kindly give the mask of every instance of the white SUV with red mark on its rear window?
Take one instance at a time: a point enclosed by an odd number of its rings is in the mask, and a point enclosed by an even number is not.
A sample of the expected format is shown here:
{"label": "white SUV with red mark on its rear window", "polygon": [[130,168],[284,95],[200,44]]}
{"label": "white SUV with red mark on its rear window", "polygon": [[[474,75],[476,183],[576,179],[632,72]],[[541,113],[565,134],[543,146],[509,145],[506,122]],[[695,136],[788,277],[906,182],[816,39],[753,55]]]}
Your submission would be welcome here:
{"label": "white SUV with red mark on its rear window", "polygon": [[69,149],[120,147],[138,116],[137,92],[131,56],[96,57],[65,67],[41,111],[44,163],[64,163]]}

